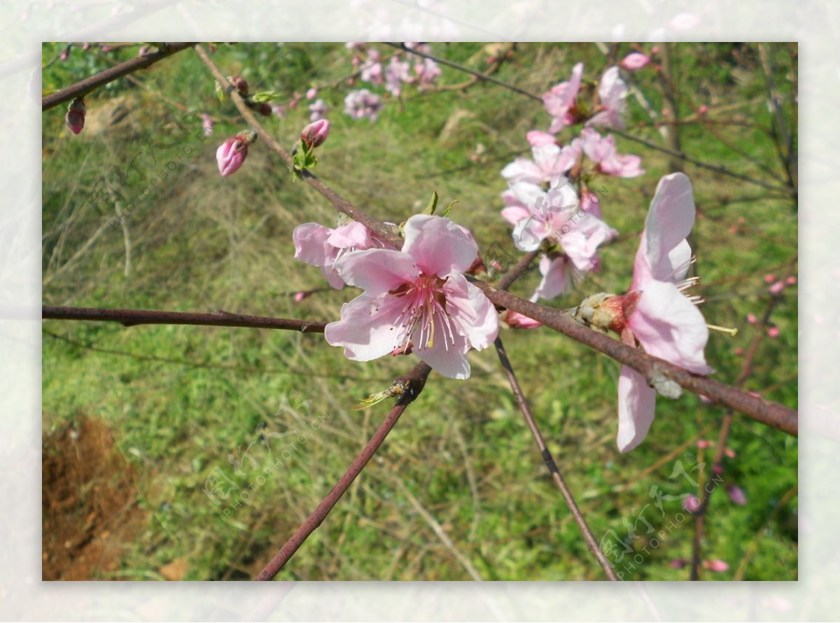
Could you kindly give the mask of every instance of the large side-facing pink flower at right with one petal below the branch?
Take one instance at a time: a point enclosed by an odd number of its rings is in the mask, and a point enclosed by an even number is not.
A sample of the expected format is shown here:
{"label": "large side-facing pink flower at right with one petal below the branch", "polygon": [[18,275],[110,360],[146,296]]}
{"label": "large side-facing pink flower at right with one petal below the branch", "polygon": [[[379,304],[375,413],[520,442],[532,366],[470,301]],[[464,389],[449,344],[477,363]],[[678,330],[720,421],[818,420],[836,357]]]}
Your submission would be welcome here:
{"label": "large side-facing pink flower at right with one petal below the branch", "polygon": [[[638,341],[645,352],[695,374],[711,374],[703,351],[709,329],[682,281],[691,261],[685,238],[694,226],[691,182],[682,173],[665,175],[656,188],[633,266],[631,291],[623,297],[622,341]],[[656,390],[636,370],[622,367],[618,380],[618,448],[636,448],[654,421]]]}

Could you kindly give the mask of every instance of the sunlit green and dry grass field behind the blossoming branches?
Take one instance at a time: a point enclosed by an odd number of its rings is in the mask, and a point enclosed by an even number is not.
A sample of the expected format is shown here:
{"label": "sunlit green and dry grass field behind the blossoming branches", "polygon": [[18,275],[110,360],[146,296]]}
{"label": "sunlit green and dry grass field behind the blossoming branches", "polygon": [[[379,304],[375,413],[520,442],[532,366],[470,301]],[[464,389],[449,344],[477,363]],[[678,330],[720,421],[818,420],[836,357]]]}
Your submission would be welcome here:
{"label": "sunlit green and dry grass field behind the blossoming branches", "polygon": [[[45,65],[65,47],[45,44]],[[379,47],[383,56],[391,54]],[[629,50],[622,45],[617,58]],[[768,44],[767,50],[774,88],[789,102],[796,92],[795,44]],[[480,71],[487,67],[482,44],[433,44],[433,52]],[[44,88],[66,86],[136,54],[136,47],[108,53],[74,48],[68,60],[45,66]],[[677,44],[672,55],[685,154],[784,185],[769,134],[774,118],[759,45]],[[518,257],[499,215],[506,188],[499,171],[527,152],[528,130],[548,128],[539,102],[483,81],[466,85],[469,76],[444,67],[438,84],[454,88],[409,88],[370,123],[342,113],[350,87],[339,79],[353,71],[343,44],[220,45],[213,58],[227,74],[244,76],[252,91],[276,90],[282,101],[322,87],[332,131],[319,148],[316,173],[366,212],[399,223],[437,191],[443,205],[458,202],[452,217],[470,228],[481,249],[501,245]],[[593,44],[520,44],[494,76],[539,95],[568,80],[579,60],[590,79],[607,66]],[[653,111],[667,107],[653,67],[630,78]],[[265,120],[290,148],[307,123],[305,102],[286,118]],[[239,172],[218,175],[218,144],[246,128],[231,102],[218,102],[213,79],[192,50],[134,80],[113,82],[86,103],[86,128],[77,136],[64,125],[64,107],[43,117],[45,304],[338,318],[341,304],[355,296],[352,289],[301,302],[292,297],[326,284],[317,268],[293,259],[291,231],[308,221],[333,226],[333,208],[294,182],[259,141]],[[627,132],[661,145],[639,100],[632,96],[628,103]],[[697,113],[701,105],[708,107],[705,117]],[[177,142],[177,123],[167,117],[171,110],[209,113],[213,136],[190,139],[187,153],[186,143]],[[784,114],[795,133],[790,107]],[[190,123],[194,137],[201,123]],[[601,182],[604,217],[621,235],[603,249],[601,271],[551,301],[554,306],[629,285],[650,199],[671,163],[655,149],[622,138],[617,143],[622,153],[642,156],[646,173]],[[134,193],[158,180],[148,196],[140,192],[142,202],[123,226],[92,206],[102,180],[116,183],[119,171]],[[717,370],[714,378],[733,384],[743,351],[754,332],[764,330],[747,316],[760,318],[768,305],[765,275],[796,275],[796,204],[790,195],[732,175],[690,163],[685,172],[698,208],[693,242],[704,316],[739,329],[734,338],[712,332],[706,359]],[[125,209],[130,201],[119,205]],[[529,296],[537,282],[534,271],[513,291]],[[795,408],[795,285],[785,289],[770,321],[778,337],[760,344],[745,388]],[[713,450],[696,441],[717,439],[724,411],[695,395],[660,398],[648,438],[620,454],[618,364],[544,328],[503,330],[501,337],[596,537],[609,531],[626,537],[628,524],[637,527],[633,553],[619,567],[633,557],[643,562],[624,578],[688,578],[687,569],[672,566],[691,558],[694,535],[676,496],[696,488],[674,468],[678,461],[685,469],[705,462],[703,474],[711,477]],[[45,526],[61,520],[89,537],[66,547],[64,537],[58,542],[45,528],[45,578],[62,577],[58,569],[81,558],[90,542],[107,542],[111,552],[108,565],[87,564],[90,578],[252,577],[332,488],[388,410],[386,404],[352,407],[405,374],[413,364],[408,359],[358,364],[319,334],[45,321],[45,461],[98,460],[106,443],[119,459],[102,459],[103,469],[79,470],[76,480],[68,479],[64,505],[59,499],[47,505],[52,482],[45,470]],[[430,376],[362,477],[278,578],[603,578],[544,469],[496,353],[472,353],[470,361],[470,380]],[[86,443],[94,430],[104,441]],[[747,504],[735,504],[724,490],[714,495],[703,553],[729,568],[705,572],[703,579],[796,579],[795,437],[736,415],[728,447],[733,456],[721,486],[740,487]],[[227,499],[205,492],[214,478]],[[654,486],[674,498],[661,512],[648,495]],[[125,489],[131,495],[120,497],[116,508],[96,502],[109,490]],[[657,546],[648,525],[665,531]]]}

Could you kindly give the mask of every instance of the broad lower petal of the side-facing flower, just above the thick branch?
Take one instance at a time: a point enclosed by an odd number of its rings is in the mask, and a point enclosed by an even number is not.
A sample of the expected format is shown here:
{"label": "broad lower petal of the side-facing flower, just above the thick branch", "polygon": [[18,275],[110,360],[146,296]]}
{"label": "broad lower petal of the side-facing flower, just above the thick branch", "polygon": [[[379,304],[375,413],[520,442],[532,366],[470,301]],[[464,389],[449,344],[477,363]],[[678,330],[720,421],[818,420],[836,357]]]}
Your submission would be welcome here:
{"label": "broad lower petal of the side-facing flower, just above the thick branch", "polygon": [[703,355],[709,339],[706,321],[674,284],[645,285],[629,325],[648,354],[695,374],[714,372]]}

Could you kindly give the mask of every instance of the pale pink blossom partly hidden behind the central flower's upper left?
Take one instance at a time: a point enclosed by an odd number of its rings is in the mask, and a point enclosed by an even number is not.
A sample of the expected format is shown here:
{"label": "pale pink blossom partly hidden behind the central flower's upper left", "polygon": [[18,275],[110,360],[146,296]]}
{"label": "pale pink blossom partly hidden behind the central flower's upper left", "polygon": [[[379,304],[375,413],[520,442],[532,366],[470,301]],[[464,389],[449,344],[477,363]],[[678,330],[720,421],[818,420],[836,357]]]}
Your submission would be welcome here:
{"label": "pale pink blossom partly hidden behind the central flower's upper left", "polygon": [[345,285],[336,270],[336,263],[345,254],[364,249],[393,249],[390,243],[355,221],[332,229],[318,223],[303,223],[295,228],[291,238],[295,243],[295,259],[318,266],[336,290]]}

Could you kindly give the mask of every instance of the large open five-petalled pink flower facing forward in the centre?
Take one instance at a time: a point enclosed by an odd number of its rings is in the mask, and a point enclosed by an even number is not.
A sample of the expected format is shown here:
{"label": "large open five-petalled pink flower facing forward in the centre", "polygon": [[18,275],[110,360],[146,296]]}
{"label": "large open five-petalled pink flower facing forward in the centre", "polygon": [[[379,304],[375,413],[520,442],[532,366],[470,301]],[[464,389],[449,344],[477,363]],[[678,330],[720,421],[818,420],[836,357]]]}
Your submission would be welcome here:
{"label": "large open five-petalled pink flower facing forward in the centre", "polygon": [[402,251],[368,249],[336,264],[340,277],[365,290],[330,322],[327,342],[370,361],[405,349],[452,379],[467,379],[466,353],[490,346],[499,318],[490,300],[462,275],[478,246],[449,218],[417,214],[404,227]]}

